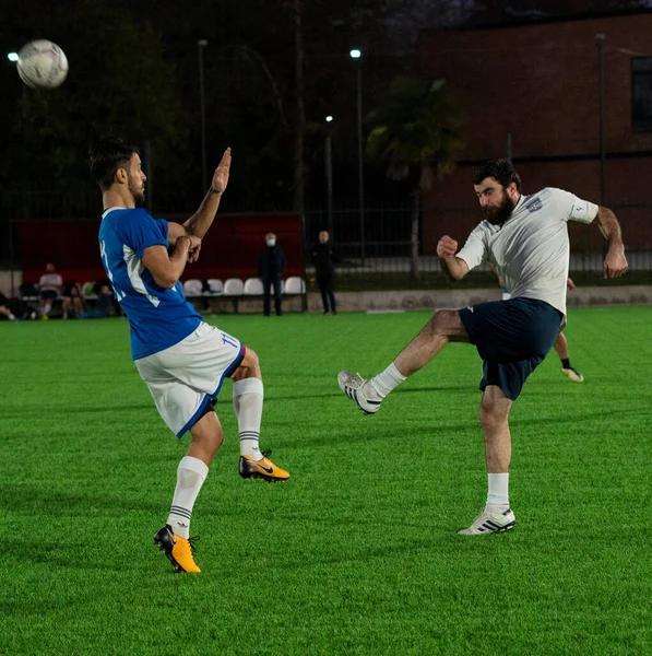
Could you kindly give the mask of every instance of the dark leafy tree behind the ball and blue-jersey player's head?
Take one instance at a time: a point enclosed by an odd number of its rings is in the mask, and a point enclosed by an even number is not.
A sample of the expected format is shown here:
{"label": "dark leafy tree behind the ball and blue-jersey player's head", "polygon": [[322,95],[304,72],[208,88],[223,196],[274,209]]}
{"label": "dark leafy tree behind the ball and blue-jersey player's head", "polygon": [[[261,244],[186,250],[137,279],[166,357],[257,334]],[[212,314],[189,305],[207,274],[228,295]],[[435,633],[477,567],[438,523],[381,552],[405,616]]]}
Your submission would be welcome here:
{"label": "dark leafy tree behind the ball and blue-jersey player's head", "polygon": [[188,128],[161,36],[139,27],[120,0],[76,0],[74,15],[71,21],[62,1],[31,25],[62,46],[70,72],[59,89],[23,94],[15,151],[23,159],[21,175],[40,189],[95,190],[90,145],[105,134],[125,136],[140,145],[151,142],[156,194],[175,202],[186,183],[177,162]]}

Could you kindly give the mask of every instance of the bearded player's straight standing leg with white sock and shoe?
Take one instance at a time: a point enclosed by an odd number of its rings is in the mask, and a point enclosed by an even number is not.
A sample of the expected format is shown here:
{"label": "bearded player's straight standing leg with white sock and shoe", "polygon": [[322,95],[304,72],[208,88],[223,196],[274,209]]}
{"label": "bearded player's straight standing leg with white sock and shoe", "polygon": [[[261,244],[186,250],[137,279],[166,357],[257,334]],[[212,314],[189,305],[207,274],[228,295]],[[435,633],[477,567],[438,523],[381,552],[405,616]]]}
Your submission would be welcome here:
{"label": "bearded player's straight standing leg with white sock and shoe", "polygon": [[479,420],[485,436],[487,462],[487,503],[463,536],[505,532],[514,527],[515,517],[509,506],[509,464],[511,434],[509,412],[512,402],[496,385],[487,385],[479,407]]}

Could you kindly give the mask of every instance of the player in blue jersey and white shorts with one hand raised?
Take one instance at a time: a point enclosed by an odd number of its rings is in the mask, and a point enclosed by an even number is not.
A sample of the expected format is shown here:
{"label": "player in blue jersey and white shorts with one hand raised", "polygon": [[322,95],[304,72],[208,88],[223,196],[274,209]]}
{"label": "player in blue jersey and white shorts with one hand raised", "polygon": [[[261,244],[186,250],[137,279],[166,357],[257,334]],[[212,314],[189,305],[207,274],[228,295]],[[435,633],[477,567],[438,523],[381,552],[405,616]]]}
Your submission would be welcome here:
{"label": "player in blue jersey and white shorts with one hand raised", "polygon": [[[183,296],[179,278],[195,261],[228,183],[230,149],[211,188],[183,224],[154,219],[139,206],[145,174],[137,147],[102,139],[91,150],[91,171],[102,189],[99,251],[116,298],[129,319],[131,352],[167,426],[191,443],[177,469],[167,523],[154,536],[178,572],[200,572],[192,555],[190,517],[209,467],[223,441],[213,412],[224,378],[234,380],[240,436],[239,473],[269,482],[289,473],[259,449],[263,385],[258,356],[235,337],[205,324]],[[170,249],[170,250],[168,250]]]}

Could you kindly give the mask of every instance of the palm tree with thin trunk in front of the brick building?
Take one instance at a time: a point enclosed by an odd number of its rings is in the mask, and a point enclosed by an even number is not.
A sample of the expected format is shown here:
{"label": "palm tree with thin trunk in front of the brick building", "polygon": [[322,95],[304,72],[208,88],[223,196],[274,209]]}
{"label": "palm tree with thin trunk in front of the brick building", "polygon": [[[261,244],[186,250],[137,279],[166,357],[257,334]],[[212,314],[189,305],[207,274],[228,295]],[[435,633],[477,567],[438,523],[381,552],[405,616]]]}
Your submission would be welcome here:
{"label": "palm tree with thin trunk in front of the brick building", "polygon": [[371,125],[367,156],[384,165],[390,179],[411,183],[411,271],[413,280],[418,280],[422,195],[434,176],[442,178],[455,167],[455,154],[463,145],[462,112],[447,93],[444,80],[399,75],[367,121]]}

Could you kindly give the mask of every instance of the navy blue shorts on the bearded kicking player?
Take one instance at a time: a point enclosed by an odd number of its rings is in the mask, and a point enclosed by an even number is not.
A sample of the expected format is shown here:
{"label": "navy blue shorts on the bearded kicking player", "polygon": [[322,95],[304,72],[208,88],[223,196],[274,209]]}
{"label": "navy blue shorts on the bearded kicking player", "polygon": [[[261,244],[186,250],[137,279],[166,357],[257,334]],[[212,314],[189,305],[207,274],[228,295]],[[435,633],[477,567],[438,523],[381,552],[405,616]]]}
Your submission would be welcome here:
{"label": "navy blue shorts on the bearded kicking player", "polygon": [[479,388],[497,385],[515,401],[553,348],[564,315],[545,301],[510,298],[464,307],[460,318],[484,361]]}

